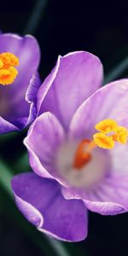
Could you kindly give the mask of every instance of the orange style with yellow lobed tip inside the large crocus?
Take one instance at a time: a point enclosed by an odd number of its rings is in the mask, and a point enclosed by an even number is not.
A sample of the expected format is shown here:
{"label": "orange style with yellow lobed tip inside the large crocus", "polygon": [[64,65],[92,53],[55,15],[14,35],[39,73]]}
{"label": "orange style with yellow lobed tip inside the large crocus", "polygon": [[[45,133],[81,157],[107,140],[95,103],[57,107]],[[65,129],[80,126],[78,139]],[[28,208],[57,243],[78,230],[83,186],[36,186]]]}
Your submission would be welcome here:
{"label": "orange style with yellow lobed tip inside the large crocus", "polygon": [[115,142],[122,144],[127,142],[127,129],[124,126],[119,126],[113,119],[104,119],[96,124],[95,128],[100,132],[93,135],[93,140],[84,139],[79,143],[73,161],[73,167],[77,170],[89,163],[94,148],[112,149]]}

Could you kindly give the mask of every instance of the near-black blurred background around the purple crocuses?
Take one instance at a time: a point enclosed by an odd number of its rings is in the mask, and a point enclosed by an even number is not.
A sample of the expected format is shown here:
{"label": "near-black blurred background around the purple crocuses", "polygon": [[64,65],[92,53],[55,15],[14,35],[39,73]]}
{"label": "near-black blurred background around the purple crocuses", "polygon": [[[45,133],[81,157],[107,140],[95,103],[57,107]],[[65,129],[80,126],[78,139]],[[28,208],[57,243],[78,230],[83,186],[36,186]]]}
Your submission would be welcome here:
{"label": "near-black blurred background around the purple crocuses", "polygon": [[[127,27],[125,1],[11,0],[0,3],[2,32],[32,33],[38,39],[42,79],[54,67],[57,55],[80,49],[100,57],[105,81],[126,77]],[[22,145],[25,136],[26,131],[22,131],[20,135],[0,137],[0,155],[14,173],[30,169],[27,159],[19,160],[26,152]],[[55,243],[58,256],[128,255],[128,214],[103,217],[90,212],[89,216],[87,239],[72,244],[62,242],[67,254],[59,254],[60,246]],[[0,187],[0,256],[57,255],[52,251],[51,242],[21,216],[9,197],[8,188]]]}

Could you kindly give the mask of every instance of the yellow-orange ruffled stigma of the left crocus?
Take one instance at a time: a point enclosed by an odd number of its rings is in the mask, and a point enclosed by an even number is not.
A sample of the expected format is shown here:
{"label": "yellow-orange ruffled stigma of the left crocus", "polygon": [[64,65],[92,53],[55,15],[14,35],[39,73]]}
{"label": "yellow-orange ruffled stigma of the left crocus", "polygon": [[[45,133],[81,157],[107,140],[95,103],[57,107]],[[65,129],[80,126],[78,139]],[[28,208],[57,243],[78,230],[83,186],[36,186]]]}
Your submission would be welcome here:
{"label": "yellow-orange ruffled stigma of the left crocus", "polygon": [[12,53],[4,52],[0,54],[0,84],[12,84],[18,71],[15,68],[19,65],[19,58]]}

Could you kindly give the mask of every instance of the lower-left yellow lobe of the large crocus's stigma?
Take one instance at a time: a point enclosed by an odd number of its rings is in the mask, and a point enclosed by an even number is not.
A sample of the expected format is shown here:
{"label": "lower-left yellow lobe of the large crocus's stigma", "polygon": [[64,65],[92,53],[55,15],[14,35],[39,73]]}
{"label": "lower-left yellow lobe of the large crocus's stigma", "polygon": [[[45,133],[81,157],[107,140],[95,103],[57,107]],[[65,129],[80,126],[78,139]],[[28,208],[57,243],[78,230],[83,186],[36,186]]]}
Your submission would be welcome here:
{"label": "lower-left yellow lobe of the large crocus's stigma", "polygon": [[102,132],[95,133],[93,139],[99,148],[112,149],[114,147],[113,137],[109,137]]}

